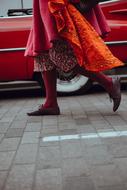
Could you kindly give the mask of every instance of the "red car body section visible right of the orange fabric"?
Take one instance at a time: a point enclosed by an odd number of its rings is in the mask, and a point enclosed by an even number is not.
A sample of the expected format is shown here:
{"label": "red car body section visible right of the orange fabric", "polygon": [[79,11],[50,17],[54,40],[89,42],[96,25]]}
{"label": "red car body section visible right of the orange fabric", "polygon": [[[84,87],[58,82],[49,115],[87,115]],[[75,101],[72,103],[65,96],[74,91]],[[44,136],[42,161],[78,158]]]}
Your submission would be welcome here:
{"label": "red car body section visible right of the orange fabric", "polygon": [[124,63],[127,62],[127,1],[112,0],[101,3],[111,32],[105,38],[111,52]]}

